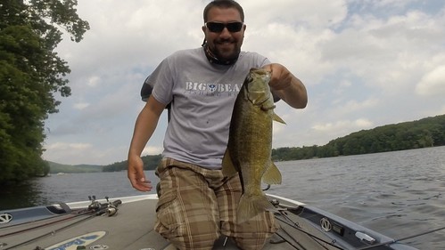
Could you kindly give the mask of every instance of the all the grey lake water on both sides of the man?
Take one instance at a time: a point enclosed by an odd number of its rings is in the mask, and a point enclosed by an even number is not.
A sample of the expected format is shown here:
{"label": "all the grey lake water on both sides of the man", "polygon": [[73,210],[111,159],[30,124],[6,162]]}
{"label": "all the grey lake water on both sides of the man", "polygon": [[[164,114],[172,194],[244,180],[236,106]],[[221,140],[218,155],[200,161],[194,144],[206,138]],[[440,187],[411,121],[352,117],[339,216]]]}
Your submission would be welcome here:
{"label": "all the grey lake water on both sides of the man", "polygon": [[[445,226],[445,147],[276,163],[283,184],[269,193],[293,198],[392,238]],[[152,171],[147,177],[155,184]],[[0,210],[58,202],[140,195],[126,172],[37,178],[0,190]],[[445,249],[445,230],[403,241]]]}

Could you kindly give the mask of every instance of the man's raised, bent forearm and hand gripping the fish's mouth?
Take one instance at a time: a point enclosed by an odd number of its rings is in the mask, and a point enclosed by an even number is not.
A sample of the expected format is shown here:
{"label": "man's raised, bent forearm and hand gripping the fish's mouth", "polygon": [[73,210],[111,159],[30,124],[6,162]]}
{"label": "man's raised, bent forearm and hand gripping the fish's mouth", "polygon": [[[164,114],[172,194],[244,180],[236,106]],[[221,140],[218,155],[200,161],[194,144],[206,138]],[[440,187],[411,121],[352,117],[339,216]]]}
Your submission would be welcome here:
{"label": "man's raised, bent forearm and hand gripping the fish's mouth", "polygon": [[263,69],[272,72],[269,85],[273,93],[295,109],[306,107],[308,93],[299,78],[293,76],[288,69],[278,63],[268,64]]}

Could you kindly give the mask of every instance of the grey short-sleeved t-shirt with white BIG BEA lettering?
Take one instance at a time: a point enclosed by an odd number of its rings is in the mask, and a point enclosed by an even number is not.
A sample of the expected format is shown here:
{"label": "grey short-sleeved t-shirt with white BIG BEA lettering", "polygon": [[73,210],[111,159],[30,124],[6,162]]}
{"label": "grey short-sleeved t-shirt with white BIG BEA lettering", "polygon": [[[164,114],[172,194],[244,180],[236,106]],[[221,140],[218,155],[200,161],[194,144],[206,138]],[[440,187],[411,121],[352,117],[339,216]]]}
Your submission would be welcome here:
{"label": "grey short-sleeved t-shirt with white BIG BEA lettering", "polygon": [[269,63],[256,52],[241,52],[233,65],[212,64],[202,48],[162,60],[145,83],[153,86],[154,99],[171,102],[163,157],[220,169],[236,96],[249,70]]}

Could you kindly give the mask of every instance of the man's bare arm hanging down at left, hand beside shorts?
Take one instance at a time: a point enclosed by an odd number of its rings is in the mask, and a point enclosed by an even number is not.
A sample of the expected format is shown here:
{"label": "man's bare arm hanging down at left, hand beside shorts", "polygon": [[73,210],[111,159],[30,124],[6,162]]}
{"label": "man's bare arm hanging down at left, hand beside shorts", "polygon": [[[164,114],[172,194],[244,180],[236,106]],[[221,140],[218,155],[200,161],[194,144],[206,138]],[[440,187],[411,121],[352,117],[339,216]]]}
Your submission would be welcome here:
{"label": "man's bare arm hanging down at left, hand beside shorts", "polygon": [[151,182],[145,179],[141,154],[152,137],[164,108],[164,104],[150,96],[136,119],[135,131],[128,149],[128,179],[136,190],[152,190]]}

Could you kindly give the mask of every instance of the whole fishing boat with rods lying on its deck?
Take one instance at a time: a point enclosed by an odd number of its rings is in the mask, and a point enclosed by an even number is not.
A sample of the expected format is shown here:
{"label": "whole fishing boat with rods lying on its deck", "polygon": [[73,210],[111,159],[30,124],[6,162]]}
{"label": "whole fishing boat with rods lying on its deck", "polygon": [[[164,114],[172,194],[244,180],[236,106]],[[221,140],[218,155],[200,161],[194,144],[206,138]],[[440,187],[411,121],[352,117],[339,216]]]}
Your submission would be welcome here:
{"label": "whole fishing boat with rods lying on its deck", "polygon": [[[414,250],[317,207],[268,194],[281,229],[263,249]],[[176,249],[153,228],[155,194],[0,211],[0,249]],[[213,249],[239,249],[221,237]]]}

